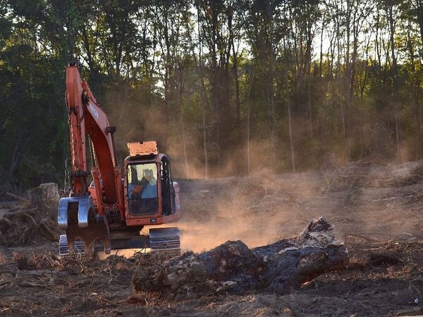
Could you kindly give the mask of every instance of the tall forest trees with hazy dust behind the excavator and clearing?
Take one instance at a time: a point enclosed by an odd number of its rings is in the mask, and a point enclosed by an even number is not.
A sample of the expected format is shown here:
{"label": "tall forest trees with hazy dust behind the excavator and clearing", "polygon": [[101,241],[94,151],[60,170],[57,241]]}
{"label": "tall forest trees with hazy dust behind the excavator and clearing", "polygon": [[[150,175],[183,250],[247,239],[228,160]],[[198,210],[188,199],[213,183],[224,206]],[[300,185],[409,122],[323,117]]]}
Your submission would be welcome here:
{"label": "tall forest trees with hazy dust behind the excavator and clearing", "polygon": [[0,0],[1,188],[65,182],[65,68],[175,178],[423,155],[423,0]]}

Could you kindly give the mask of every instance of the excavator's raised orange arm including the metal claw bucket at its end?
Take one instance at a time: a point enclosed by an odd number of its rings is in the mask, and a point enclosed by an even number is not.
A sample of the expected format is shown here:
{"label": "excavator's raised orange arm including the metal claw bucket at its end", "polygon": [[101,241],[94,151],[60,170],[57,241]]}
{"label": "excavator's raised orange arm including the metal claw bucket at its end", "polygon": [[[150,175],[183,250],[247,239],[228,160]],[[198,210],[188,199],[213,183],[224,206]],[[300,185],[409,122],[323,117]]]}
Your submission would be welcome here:
{"label": "excavator's raised orange arm including the metal claw bucket at its end", "polygon": [[[102,240],[109,251],[109,226],[105,213],[125,215],[121,170],[116,164],[113,134],[106,113],[94,98],[87,82],[82,81],[78,66],[66,68],[66,106],[68,109],[72,170],[70,197],[59,201],[59,228],[66,230],[70,253],[75,239],[87,242]],[[87,138],[88,137],[88,138]],[[87,177],[87,139],[92,142],[94,161],[94,199]],[[88,226],[90,225],[90,228]]]}

